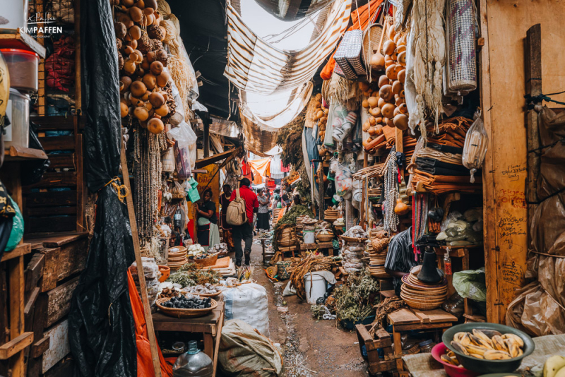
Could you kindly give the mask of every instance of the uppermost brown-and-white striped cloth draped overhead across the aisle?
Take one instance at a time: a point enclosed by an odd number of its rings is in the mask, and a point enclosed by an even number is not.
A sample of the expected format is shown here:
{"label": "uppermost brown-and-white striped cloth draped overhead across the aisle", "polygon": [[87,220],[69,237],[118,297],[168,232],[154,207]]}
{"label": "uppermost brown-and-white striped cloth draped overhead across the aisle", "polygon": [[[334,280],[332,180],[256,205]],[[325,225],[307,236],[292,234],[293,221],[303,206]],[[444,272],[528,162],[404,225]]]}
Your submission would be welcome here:
{"label": "uppermost brown-and-white striped cloth draped overhead across the aisle", "polygon": [[283,51],[258,37],[227,5],[227,66],[224,76],[240,90],[270,95],[307,83],[345,32],[351,0],[334,1],[316,39],[298,51]]}

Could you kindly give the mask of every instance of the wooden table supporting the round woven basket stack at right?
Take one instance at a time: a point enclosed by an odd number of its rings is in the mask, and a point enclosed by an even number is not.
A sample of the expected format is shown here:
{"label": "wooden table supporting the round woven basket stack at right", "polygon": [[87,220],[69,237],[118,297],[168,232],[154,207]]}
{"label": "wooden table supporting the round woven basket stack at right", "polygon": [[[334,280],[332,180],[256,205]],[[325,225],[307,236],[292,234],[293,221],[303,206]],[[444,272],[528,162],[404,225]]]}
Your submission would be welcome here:
{"label": "wooden table supporting the round woven basket stack at right", "polygon": [[409,376],[408,372],[404,371],[402,362],[402,341],[400,335],[403,331],[420,330],[424,331],[445,331],[451,328],[454,322],[457,322],[457,317],[442,309],[434,309],[428,311],[420,311],[417,309],[403,308],[387,316],[388,323],[393,326],[393,340],[394,340],[394,353],[396,359],[396,369],[399,375]]}

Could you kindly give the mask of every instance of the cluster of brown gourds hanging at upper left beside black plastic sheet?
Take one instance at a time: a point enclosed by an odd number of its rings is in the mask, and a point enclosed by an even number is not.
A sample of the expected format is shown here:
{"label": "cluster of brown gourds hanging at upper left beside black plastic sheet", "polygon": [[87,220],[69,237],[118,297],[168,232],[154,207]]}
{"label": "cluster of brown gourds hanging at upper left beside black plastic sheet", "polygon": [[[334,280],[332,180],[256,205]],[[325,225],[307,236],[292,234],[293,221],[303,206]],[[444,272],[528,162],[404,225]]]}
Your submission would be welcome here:
{"label": "cluster of brown gourds hanging at upper left beside black plastic sheet", "polygon": [[119,6],[114,30],[122,75],[121,118],[131,116],[151,133],[161,133],[176,104],[170,95],[171,76],[165,69],[168,55],[162,41],[167,32],[159,25],[157,0],[113,1]]}

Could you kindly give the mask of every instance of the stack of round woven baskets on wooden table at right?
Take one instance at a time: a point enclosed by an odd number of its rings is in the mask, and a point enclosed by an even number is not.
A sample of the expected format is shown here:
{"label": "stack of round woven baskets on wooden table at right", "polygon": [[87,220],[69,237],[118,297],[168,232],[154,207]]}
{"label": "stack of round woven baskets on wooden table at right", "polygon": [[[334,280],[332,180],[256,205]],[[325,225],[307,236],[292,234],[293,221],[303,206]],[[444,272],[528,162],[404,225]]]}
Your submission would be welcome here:
{"label": "stack of round woven baskets on wooden table at right", "polygon": [[439,308],[446,301],[447,280],[444,277],[436,284],[420,282],[417,275],[421,268],[421,265],[417,265],[412,268],[409,274],[403,276],[400,298],[414,309],[432,310]]}

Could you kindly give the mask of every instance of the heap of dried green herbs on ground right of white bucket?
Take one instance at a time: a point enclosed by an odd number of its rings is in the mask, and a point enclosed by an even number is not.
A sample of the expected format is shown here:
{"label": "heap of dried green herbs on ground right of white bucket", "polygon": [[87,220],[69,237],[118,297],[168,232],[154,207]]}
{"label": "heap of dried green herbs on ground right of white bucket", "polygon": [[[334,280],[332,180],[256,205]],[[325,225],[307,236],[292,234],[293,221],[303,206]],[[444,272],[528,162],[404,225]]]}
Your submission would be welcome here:
{"label": "heap of dried green herbs on ground right of white bucket", "polygon": [[357,322],[373,315],[373,306],[379,303],[378,293],[379,283],[367,270],[350,275],[347,284],[335,287],[333,292],[338,320]]}

